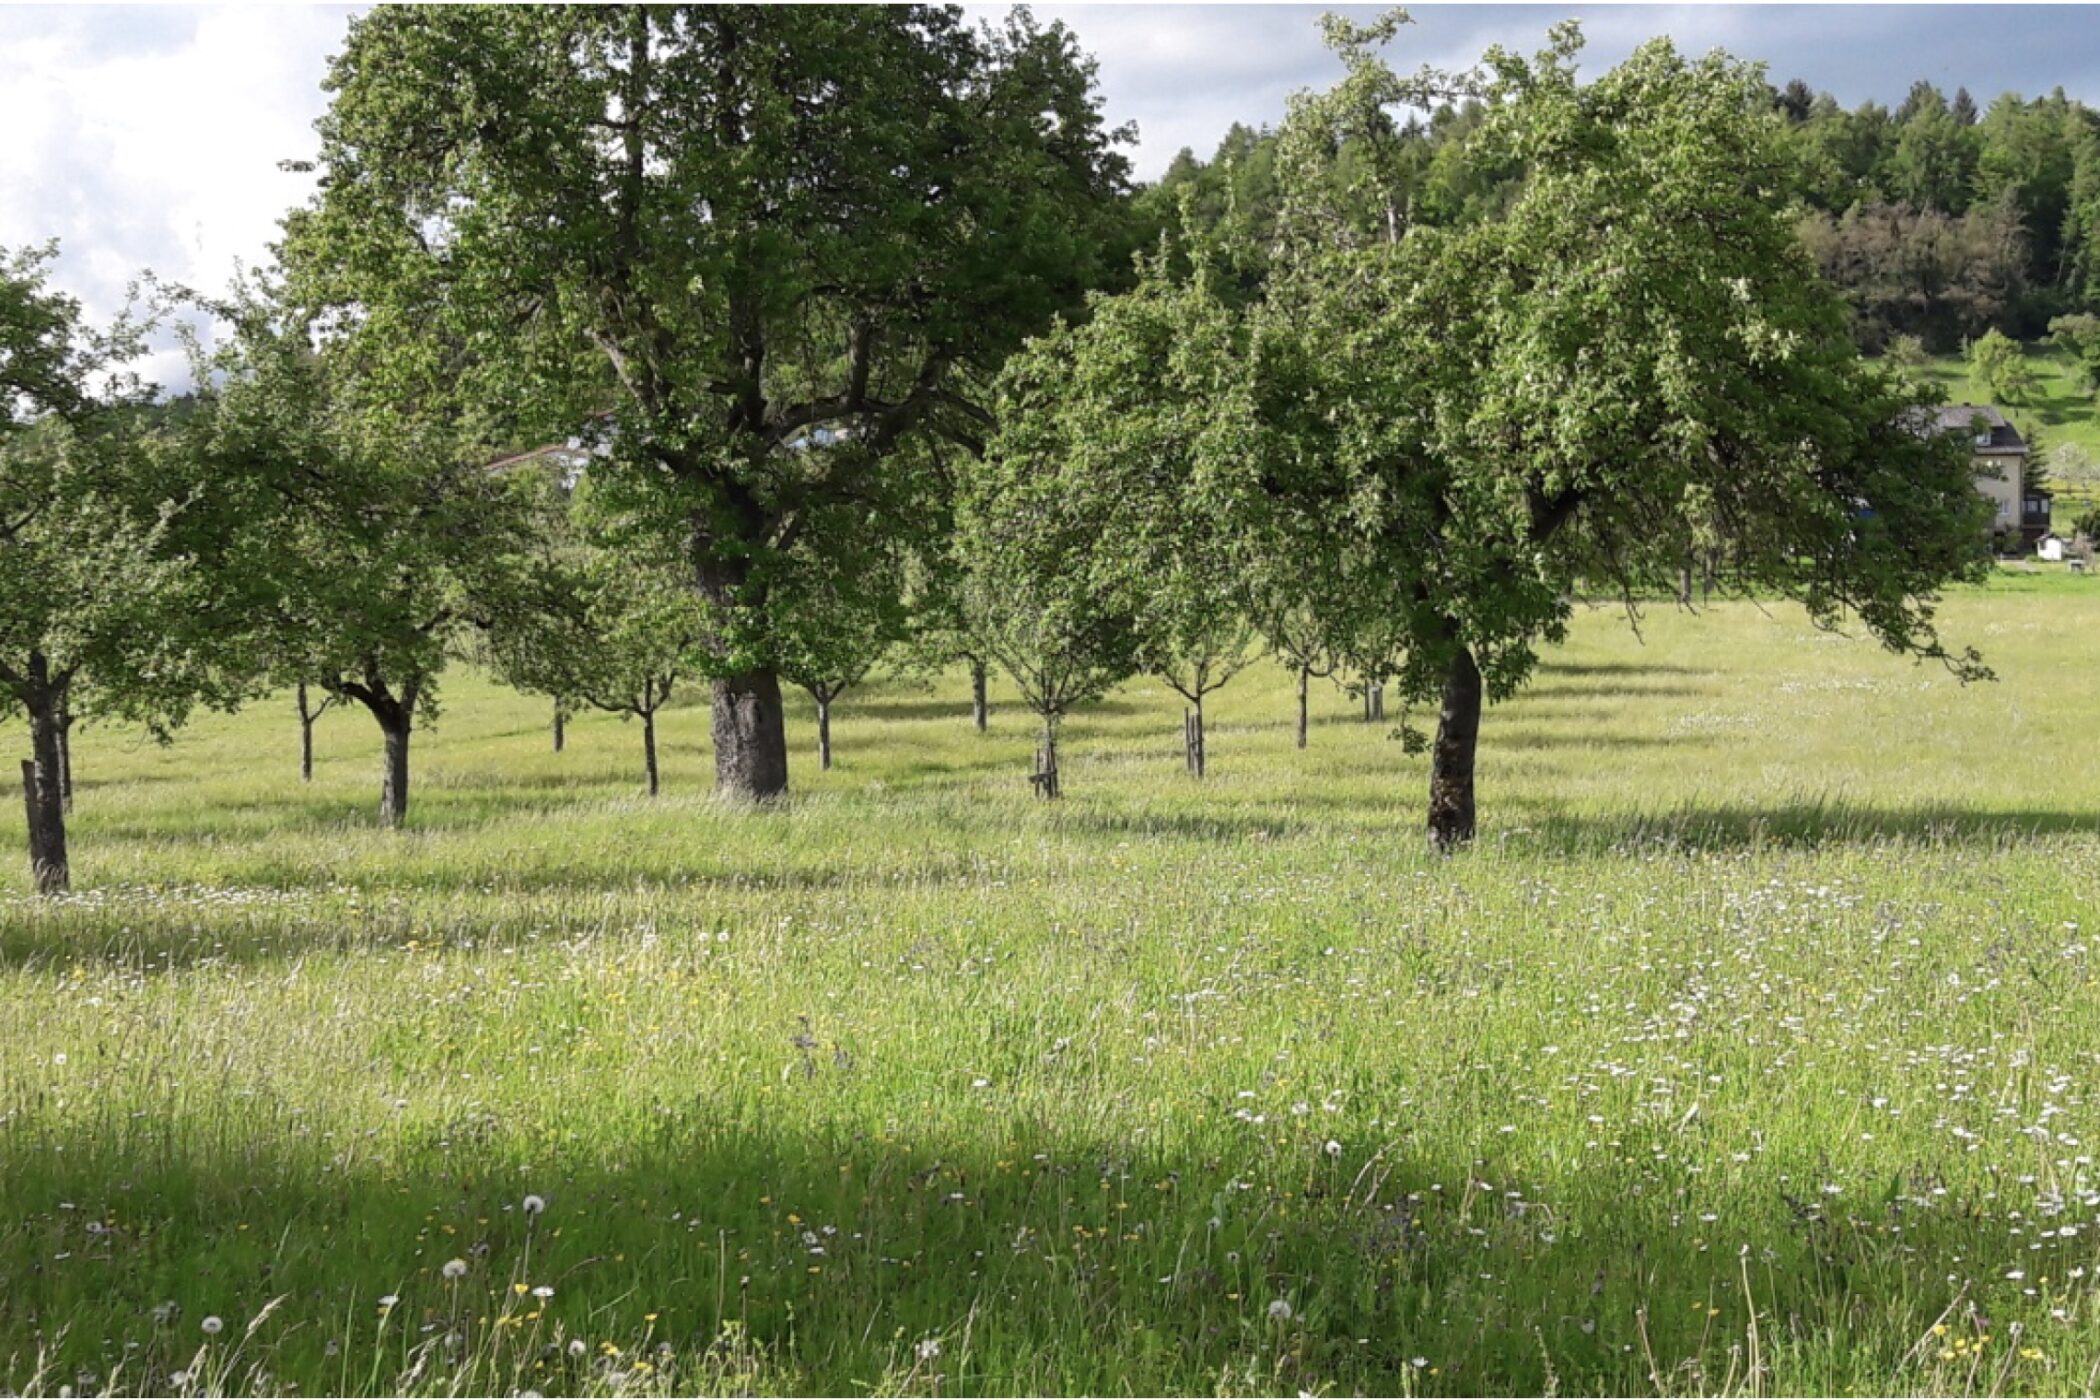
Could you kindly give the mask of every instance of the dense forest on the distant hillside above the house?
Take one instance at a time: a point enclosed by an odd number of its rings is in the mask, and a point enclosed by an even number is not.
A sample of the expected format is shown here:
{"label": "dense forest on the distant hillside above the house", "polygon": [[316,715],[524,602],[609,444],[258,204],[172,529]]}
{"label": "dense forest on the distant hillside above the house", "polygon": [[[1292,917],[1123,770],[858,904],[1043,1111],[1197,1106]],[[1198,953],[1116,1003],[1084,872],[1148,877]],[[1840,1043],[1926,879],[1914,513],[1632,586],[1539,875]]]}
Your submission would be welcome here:
{"label": "dense forest on the distant hillside above the house", "polygon": [[[1846,296],[1861,348],[1917,336],[1945,353],[1987,330],[2039,340],[2064,315],[2100,309],[2100,113],[2062,88],[1980,107],[1930,82],[1888,109],[1842,107],[1793,80],[1772,88],[1787,118],[1787,168],[1762,176],[1800,210],[1800,235]],[[1447,103],[1394,134],[1411,225],[1497,214],[1520,172],[1478,155],[1478,103]],[[1218,151],[1180,151],[1144,191],[1153,218],[1182,199],[1212,231],[1260,250],[1277,218],[1277,134],[1233,126]],[[1336,176],[1352,183],[1344,151]]]}

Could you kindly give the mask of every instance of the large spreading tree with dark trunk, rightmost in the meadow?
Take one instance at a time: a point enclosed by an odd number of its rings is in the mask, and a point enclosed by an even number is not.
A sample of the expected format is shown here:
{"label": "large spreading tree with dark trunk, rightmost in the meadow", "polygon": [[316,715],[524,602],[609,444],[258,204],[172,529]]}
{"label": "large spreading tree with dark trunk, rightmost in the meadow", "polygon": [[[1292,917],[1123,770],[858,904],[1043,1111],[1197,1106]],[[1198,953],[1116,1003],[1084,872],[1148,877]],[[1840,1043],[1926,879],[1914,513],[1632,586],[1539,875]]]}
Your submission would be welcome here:
{"label": "large spreading tree with dark trunk, rightmost in the meadow", "polygon": [[1298,489],[1329,510],[1300,518],[1392,579],[1403,699],[1438,705],[1441,848],[1474,833],[1483,703],[1579,590],[1630,600],[1701,537],[1737,586],[1982,674],[1932,625],[1938,586],[1982,569],[1968,462],[1806,264],[1762,78],[1653,42],[1583,86],[1577,44],[1489,55],[1480,141],[1529,155],[1502,220],[1306,256],[1262,309],[1256,361],[1321,405],[1283,434],[1325,472]]}

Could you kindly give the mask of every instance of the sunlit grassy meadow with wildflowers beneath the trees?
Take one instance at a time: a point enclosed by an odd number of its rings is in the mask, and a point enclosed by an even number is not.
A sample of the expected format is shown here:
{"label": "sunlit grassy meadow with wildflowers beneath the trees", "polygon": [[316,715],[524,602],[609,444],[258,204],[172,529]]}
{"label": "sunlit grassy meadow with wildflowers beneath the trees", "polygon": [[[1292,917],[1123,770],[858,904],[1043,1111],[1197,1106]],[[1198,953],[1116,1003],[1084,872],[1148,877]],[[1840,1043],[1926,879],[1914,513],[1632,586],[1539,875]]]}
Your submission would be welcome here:
{"label": "sunlit grassy meadow with wildflowers beneath the trees", "polygon": [[1268,670],[1058,806],[958,680],[735,810],[699,709],[649,802],[454,676],[401,833],[361,714],[311,787],[288,703],[86,730],[80,894],[0,892],[0,1387],[2090,1390],[2100,581],[1945,621],[1997,684],[1583,615],[1449,861]]}

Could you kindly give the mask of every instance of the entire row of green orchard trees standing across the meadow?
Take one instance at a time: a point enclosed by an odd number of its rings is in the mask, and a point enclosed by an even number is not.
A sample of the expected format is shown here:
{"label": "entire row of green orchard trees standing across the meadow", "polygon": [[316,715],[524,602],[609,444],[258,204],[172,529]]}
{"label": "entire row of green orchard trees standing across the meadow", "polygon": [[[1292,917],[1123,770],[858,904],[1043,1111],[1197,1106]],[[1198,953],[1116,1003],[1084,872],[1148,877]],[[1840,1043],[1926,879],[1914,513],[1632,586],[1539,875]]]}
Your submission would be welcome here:
{"label": "entire row of green orchard trees standing across the meadow", "polygon": [[[771,798],[783,680],[827,756],[886,651],[966,661],[979,724],[1000,665],[1056,796],[1060,718],[1134,674],[1186,699],[1201,772],[1205,699],[1266,644],[1300,697],[1392,686],[1407,737],[1436,707],[1443,846],[1483,703],[1573,598],[1695,554],[1978,674],[1932,630],[1978,558],[1966,453],[1846,338],[1762,76],[1653,44],[1586,86],[1564,27],[1403,78],[1401,23],[1327,21],[1346,76],[1275,134],[1270,214],[1161,220],[1025,13],[353,21],[319,195],[214,306],[189,401],[8,264],[0,682],[40,888],[82,707],[355,703],[399,823],[462,649],[638,718],[651,789],[657,709],[706,682],[718,791]],[[1436,220],[1396,118],[1430,105],[1493,172]]]}

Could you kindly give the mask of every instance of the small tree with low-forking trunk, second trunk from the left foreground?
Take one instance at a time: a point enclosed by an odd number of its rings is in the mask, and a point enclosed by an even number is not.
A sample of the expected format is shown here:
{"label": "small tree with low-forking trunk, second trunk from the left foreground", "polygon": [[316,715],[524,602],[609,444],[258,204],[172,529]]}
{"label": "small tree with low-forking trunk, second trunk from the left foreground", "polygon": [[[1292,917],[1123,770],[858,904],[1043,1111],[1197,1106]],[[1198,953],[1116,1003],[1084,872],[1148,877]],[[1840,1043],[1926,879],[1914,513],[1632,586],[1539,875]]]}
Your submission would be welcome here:
{"label": "small tree with low-forking trunk, second trunk from the left foreground", "polygon": [[250,560],[252,665],[363,705],[384,739],[380,821],[399,827],[447,653],[538,600],[525,504],[441,413],[315,355],[298,317],[258,298],[220,311],[237,336],[200,365],[189,451],[239,491],[223,529]]}

